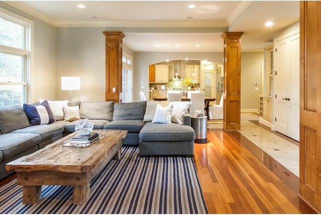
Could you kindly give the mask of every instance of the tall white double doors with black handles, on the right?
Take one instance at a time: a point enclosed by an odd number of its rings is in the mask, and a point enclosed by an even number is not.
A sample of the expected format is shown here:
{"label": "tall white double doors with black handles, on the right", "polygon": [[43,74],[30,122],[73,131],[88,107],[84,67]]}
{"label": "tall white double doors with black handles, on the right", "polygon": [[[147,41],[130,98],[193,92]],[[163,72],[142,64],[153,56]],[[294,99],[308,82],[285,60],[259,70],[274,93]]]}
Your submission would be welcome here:
{"label": "tall white double doors with black handles, on the right", "polygon": [[275,130],[299,140],[299,34],[275,43]]}

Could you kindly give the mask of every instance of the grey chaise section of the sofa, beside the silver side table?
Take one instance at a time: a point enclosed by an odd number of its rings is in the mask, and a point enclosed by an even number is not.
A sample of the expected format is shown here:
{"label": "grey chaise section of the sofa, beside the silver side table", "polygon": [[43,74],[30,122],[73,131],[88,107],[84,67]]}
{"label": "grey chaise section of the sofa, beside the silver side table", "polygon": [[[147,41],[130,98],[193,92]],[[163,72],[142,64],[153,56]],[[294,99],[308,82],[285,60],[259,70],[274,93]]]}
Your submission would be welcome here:
{"label": "grey chaise section of the sofa, beside the silver side table", "polygon": [[195,131],[188,125],[146,122],[139,133],[139,155],[194,155]]}

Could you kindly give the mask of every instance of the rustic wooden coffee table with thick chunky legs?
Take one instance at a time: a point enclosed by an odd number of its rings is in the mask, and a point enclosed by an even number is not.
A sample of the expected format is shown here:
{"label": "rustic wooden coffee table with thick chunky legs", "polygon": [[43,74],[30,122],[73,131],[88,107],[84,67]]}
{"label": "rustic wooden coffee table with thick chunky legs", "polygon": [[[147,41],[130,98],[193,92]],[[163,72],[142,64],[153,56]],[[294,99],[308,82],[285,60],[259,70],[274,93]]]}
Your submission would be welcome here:
{"label": "rustic wooden coffee table with thick chunky legs", "polygon": [[32,154],[6,165],[17,171],[18,184],[23,185],[23,203],[34,204],[41,196],[42,185],[73,186],[72,202],[85,204],[90,181],[113,158],[121,158],[121,146],[127,131],[95,130],[105,137],[85,148],[63,146],[72,133]]}

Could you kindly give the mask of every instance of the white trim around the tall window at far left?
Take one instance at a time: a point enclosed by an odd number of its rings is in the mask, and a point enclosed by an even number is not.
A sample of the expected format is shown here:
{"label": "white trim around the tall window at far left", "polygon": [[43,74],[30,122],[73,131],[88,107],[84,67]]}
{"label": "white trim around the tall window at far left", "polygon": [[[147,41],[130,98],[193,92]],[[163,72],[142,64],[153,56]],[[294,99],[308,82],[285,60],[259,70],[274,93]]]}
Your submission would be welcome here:
{"label": "white trim around the tall window at far left", "polygon": [[[7,11],[3,8],[0,8],[0,16],[2,18],[8,19],[11,22],[14,22],[16,24],[22,24],[24,26],[26,26],[25,29],[25,37],[24,37],[24,41],[23,41],[23,50],[21,49],[17,49],[14,47],[7,47],[4,45],[0,45],[0,50],[3,53],[7,53],[7,54],[19,54],[21,56],[26,56],[28,55],[28,60],[26,61],[26,74],[27,77],[24,77],[25,82],[21,82],[23,85],[27,85],[26,86],[26,92],[25,92],[25,102],[30,103],[30,101],[32,100],[32,98],[34,98],[35,96],[35,92],[34,92],[34,87],[32,87],[33,83],[34,83],[34,22],[24,18],[22,16],[19,16],[15,13],[12,13],[10,11]],[[5,50],[4,50],[5,49]],[[21,84],[20,83],[20,84]],[[2,83],[2,85],[5,85],[6,83]],[[11,83],[14,84],[14,83]],[[15,83],[16,84],[16,83]]]}

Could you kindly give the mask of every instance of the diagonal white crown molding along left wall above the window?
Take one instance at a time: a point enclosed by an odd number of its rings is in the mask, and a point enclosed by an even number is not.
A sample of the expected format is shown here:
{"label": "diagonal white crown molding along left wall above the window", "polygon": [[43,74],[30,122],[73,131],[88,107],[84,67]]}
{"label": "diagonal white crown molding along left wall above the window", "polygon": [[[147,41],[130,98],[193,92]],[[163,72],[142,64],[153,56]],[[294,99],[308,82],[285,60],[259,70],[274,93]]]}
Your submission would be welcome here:
{"label": "diagonal white crown molding along left wall above the window", "polygon": [[7,5],[10,5],[22,12],[25,12],[39,20],[42,20],[52,26],[57,27],[57,21],[55,19],[52,19],[51,17],[49,17],[48,15],[41,13],[33,8],[31,8],[30,6],[20,2],[20,1],[6,1],[5,2]]}

